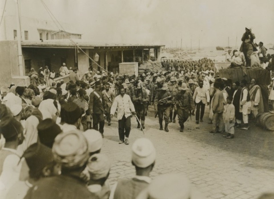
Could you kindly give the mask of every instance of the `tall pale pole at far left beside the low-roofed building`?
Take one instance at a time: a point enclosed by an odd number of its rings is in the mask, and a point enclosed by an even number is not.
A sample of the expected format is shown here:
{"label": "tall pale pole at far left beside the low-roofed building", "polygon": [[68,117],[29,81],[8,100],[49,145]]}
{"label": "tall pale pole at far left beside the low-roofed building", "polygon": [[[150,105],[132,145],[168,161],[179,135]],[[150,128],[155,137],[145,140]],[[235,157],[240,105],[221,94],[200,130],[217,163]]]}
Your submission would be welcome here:
{"label": "tall pale pole at far left beside the low-roofed building", "polygon": [[20,16],[20,5],[19,0],[16,1],[16,15],[17,15],[17,48],[18,48],[18,66],[19,66],[19,76],[23,76],[23,55],[22,55],[22,47],[21,47],[21,40],[22,40],[22,32],[21,32],[21,16]]}

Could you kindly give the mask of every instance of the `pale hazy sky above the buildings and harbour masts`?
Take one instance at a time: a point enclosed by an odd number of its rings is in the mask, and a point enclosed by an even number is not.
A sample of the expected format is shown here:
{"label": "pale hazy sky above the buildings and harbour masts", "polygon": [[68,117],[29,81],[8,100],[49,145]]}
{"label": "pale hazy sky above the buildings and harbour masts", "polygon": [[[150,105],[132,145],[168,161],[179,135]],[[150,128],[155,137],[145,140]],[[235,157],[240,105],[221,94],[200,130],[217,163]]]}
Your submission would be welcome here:
{"label": "pale hazy sky above the buildings and harbour masts", "polygon": [[[1,1],[1,10],[3,2]],[[14,0],[7,0],[13,1]],[[40,0],[20,0],[21,15],[51,20]],[[274,43],[274,0],[44,0],[82,39],[170,47],[241,44],[245,26],[256,42]],[[14,7],[11,6],[11,9]]]}

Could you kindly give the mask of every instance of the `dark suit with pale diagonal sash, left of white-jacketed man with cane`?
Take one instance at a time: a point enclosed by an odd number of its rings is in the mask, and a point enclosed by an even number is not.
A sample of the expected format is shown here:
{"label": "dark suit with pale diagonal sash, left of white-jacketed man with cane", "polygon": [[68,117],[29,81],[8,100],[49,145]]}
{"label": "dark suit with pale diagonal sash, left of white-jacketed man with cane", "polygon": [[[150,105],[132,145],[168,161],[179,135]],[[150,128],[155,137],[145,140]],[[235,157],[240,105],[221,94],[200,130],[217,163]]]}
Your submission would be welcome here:
{"label": "dark suit with pale diagonal sash, left of white-jacketed man with cane", "polygon": [[[98,98],[98,96],[94,94],[94,92],[96,92],[100,96],[100,98]],[[99,132],[103,134],[104,124],[105,124],[104,110],[106,108],[106,103],[103,99],[101,91],[94,90],[94,92],[90,94],[88,108],[90,109],[90,111],[93,112],[92,114],[93,129],[98,131],[98,123],[99,123]]]}

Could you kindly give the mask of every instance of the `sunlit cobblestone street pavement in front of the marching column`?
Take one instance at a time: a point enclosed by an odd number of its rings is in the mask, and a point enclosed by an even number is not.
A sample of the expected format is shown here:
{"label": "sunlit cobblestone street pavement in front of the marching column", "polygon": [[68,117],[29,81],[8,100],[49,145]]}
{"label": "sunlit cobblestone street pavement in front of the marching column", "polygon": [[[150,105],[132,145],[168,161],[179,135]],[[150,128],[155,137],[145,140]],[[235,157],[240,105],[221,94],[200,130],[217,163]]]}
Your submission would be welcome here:
{"label": "sunlit cobblestone street pavement in front of the marching column", "polygon": [[[206,107],[206,113],[208,113]],[[178,120],[169,125],[169,132],[160,131],[158,119],[150,107],[145,124],[145,137],[157,151],[156,165],[151,177],[164,173],[186,175],[193,185],[207,198],[257,198],[262,192],[274,190],[273,132],[264,131],[253,123],[248,131],[235,130],[234,139],[222,134],[209,133],[208,114],[204,122],[185,123],[183,133]],[[112,162],[109,182],[135,175],[131,164],[131,146],[134,140],[143,137],[132,117],[130,145],[118,144],[118,123],[114,118],[110,127],[105,127],[102,153]]]}

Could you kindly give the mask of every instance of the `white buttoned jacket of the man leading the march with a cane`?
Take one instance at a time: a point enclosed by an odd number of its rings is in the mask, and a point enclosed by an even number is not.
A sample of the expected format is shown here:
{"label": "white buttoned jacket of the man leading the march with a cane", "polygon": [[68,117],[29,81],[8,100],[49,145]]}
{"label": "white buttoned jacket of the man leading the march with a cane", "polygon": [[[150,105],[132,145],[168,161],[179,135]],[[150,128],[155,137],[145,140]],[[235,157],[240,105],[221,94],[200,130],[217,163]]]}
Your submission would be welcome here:
{"label": "white buttoned jacket of the man leading the march with a cane", "polygon": [[118,107],[118,111],[117,111],[118,120],[121,120],[124,115],[127,118],[128,116],[131,115],[131,112],[135,111],[135,108],[130,99],[130,96],[127,94],[125,94],[124,97],[122,97],[121,95],[116,96],[111,106],[110,114],[114,115],[117,107]]}

